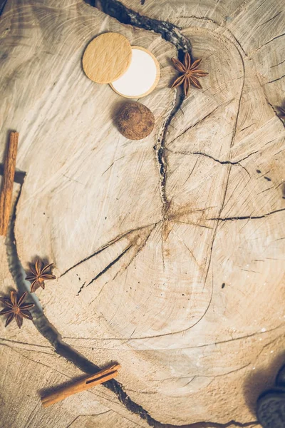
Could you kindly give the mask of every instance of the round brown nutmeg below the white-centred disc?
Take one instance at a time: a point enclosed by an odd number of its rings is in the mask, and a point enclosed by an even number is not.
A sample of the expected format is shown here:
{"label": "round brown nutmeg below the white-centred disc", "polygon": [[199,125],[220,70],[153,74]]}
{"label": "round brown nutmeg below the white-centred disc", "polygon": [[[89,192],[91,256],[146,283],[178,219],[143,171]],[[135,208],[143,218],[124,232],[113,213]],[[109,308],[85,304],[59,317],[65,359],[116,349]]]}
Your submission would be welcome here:
{"label": "round brown nutmeg below the white-centred disc", "polygon": [[129,140],[141,140],[150,135],[155,116],[149,108],[138,102],[125,103],[117,118],[118,130]]}

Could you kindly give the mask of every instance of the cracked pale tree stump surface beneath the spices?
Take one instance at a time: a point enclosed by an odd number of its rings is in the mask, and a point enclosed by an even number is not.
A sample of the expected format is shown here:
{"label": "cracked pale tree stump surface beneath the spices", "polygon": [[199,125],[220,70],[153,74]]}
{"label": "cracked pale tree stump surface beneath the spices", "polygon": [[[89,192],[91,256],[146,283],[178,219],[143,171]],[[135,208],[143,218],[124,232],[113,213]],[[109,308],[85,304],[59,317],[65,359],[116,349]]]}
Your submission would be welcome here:
{"label": "cracked pale tree stump surface beneath the spices", "polygon": [[[34,323],[1,317],[1,427],[260,427],[284,363],[284,1],[98,3],[8,0],[1,16],[1,156],[18,131],[26,173],[1,295],[28,287],[36,257],[57,277]],[[142,141],[115,126],[127,100],[82,69],[107,31],[160,63]],[[170,58],[185,46],[209,76],[182,100]],[[110,362],[119,383],[42,409]]]}

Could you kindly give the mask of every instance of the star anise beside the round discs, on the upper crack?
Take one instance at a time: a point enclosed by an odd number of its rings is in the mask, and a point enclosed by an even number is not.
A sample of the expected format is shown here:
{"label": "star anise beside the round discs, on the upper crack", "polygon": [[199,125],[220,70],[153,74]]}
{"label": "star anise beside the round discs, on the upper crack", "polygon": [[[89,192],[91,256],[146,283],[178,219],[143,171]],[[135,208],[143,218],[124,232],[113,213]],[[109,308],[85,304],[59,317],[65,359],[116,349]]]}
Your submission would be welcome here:
{"label": "star anise beside the round discs, on the upper crack", "polygon": [[207,76],[207,74],[209,74],[206,71],[202,71],[197,68],[202,59],[197,59],[191,65],[190,55],[188,54],[188,52],[186,52],[183,63],[178,61],[178,59],[176,58],[171,58],[171,60],[175,68],[181,73],[181,76],[179,76],[172,84],[172,88],[177,88],[177,86],[183,85],[183,91],[185,93],[185,96],[187,96],[189,92],[191,83],[192,85],[196,86],[196,88],[202,89],[201,83],[199,83],[198,78]]}

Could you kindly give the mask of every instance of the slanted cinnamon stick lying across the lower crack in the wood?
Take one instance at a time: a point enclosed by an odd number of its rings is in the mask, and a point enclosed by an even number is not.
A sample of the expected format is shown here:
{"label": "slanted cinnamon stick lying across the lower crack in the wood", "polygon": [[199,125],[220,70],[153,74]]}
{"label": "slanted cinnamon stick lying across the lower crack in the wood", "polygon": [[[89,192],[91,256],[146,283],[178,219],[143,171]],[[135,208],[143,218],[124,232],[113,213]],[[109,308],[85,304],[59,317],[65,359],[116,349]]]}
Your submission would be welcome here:
{"label": "slanted cinnamon stick lying across the lower crack in the wood", "polygon": [[43,404],[43,407],[48,407],[52,404],[60,402],[70,395],[77,394],[77,392],[86,391],[86,389],[90,389],[95,385],[107,382],[108,380],[117,376],[118,369],[120,369],[120,365],[116,364],[109,367],[108,369],[100,370],[100,372],[97,372],[92,376],[78,380],[78,382],[72,385],[68,385],[67,387],[63,387],[56,392],[46,395],[46,397],[42,397],[41,403]]}

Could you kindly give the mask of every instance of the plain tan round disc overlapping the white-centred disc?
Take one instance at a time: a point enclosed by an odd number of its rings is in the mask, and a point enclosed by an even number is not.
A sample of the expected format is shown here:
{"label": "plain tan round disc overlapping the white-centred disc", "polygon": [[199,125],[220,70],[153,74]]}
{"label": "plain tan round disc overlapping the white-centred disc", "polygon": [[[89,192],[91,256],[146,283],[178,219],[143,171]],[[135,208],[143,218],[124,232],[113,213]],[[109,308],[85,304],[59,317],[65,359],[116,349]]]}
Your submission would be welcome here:
{"label": "plain tan round disc overlapping the white-centred disc", "polygon": [[82,58],[86,76],[96,83],[116,81],[132,60],[130,42],[122,34],[104,33],[88,44]]}

